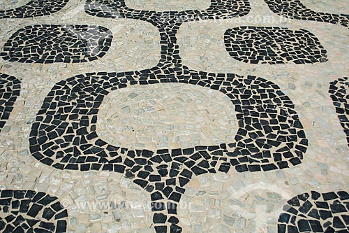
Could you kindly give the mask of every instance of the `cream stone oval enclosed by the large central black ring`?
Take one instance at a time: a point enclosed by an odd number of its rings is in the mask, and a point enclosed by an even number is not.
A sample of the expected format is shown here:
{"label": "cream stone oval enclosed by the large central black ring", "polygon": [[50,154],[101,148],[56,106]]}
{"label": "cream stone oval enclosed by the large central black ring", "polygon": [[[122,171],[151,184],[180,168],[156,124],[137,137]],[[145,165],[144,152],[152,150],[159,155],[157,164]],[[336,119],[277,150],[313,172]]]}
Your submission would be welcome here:
{"label": "cream stone oval enclosed by the large central black ring", "polygon": [[234,141],[235,106],[222,92],[183,83],[137,85],[110,92],[96,131],[107,143],[158,150]]}

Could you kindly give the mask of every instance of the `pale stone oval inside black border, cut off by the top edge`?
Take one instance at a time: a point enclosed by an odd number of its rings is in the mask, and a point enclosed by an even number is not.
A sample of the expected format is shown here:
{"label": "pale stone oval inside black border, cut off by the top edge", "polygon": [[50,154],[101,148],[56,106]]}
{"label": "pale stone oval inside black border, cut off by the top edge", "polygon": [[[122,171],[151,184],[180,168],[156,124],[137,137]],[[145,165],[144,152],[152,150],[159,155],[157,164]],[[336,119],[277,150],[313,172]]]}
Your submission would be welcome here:
{"label": "pale stone oval inside black border, cut off by the top edge", "polygon": [[211,5],[208,0],[125,0],[125,3],[135,10],[155,11],[206,10]]}

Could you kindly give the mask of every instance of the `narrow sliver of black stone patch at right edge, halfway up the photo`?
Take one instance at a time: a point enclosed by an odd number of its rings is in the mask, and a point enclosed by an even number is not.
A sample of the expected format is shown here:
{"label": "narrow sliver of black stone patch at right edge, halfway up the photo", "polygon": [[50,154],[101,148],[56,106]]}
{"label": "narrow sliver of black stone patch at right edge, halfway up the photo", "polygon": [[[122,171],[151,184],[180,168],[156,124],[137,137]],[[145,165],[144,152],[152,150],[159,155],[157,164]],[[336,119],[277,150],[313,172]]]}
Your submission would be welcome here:
{"label": "narrow sliver of black stone patch at right edge, halfway up the photo", "polygon": [[349,79],[348,77],[339,78],[329,84],[329,94],[334,106],[336,107],[336,113],[338,114],[339,121],[343,127],[344,133],[347,136],[349,146]]}

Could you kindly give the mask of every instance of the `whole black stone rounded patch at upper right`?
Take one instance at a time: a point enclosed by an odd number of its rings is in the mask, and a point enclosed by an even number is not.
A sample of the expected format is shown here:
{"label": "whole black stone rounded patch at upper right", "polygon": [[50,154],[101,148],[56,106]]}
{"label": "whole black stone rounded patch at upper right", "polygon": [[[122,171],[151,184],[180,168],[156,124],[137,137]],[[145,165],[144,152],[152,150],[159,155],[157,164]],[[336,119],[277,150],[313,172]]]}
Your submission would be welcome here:
{"label": "whole black stone rounded patch at upper right", "polygon": [[234,59],[252,64],[327,62],[326,50],[310,31],[280,27],[235,27],[224,34]]}

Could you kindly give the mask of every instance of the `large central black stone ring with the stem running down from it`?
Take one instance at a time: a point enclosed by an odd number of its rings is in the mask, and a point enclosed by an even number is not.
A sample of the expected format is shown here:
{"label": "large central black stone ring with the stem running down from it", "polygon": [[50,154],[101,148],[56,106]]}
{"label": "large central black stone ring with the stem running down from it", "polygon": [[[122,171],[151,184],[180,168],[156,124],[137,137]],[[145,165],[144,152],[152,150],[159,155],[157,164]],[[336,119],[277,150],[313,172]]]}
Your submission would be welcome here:
{"label": "large central black stone ring with the stem running down from it", "polygon": [[[226,94],[239,121],[235,141],[151,151],[112,146],[96,134],[98,108],[107,94],[131,85],[155,83],[200,85]],[[31,155],[44,164],[57,169],[123,173],[151,192],[154,206],[166,206],[167,198],[171,208],[193,176],[226,173],[231,166],[239,172],[284,169],[301,163],[307,148],[294,105],[277,85],[253,76],[178,68],[165,75],[157,67],[87,73],[57,83],[38,112],[29,141]],[[165,232],[165,222],[180,229],[174,209],[154,209],[157,211],[165,212],[154,213],[157,232]]]}

